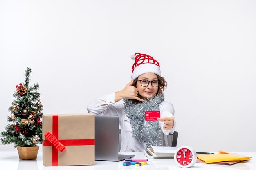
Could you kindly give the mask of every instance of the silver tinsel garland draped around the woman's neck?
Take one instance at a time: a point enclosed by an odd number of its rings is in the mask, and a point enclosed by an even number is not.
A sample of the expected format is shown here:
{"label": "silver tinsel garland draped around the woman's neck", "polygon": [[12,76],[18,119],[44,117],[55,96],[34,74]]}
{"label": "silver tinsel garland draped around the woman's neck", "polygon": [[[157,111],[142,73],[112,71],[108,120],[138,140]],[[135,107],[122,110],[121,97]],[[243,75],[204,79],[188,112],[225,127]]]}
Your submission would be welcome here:
{"label": "silver tinsel garland draped around the woman's neck", "polygon": [[158,121],[145,121],[145,111],[158,111],[164,101],[164,95],[155,95],[142,103],[132,103],[124,99],[124,113],[130,119],[132,137],[139,142],[145,142],[146,148],[161,146],[162,130]]}

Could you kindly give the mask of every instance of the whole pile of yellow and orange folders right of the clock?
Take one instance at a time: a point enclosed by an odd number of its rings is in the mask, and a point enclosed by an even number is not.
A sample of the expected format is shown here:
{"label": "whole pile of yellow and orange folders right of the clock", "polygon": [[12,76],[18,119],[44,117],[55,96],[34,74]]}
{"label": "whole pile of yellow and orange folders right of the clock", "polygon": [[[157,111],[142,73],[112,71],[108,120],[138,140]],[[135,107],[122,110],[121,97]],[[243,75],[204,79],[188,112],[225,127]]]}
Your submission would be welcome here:
{"label": "whole pile of yellow and orange folders right of the clock", "polygon": [[219,151],[218,154],[198,154],[197,163],[214,163],[223,165],[232,165],[240,161],[250,160],[250,157],[236,153],[227,153]]}

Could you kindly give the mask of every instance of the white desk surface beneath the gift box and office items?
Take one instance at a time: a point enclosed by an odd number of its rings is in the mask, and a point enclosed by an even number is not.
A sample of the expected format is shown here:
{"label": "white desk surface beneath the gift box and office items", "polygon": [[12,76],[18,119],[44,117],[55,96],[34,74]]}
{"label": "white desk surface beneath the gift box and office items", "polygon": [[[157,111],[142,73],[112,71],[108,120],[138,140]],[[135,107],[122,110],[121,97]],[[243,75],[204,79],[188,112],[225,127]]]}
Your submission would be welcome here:
{"label": "white desk surface beneath the gift box and office items", "polygon": [[[238,153],[238,152],[236,152]],[[256,152],[239,152],[252,157],[252,160],[237,163],[231,166],[195,163],[189,170],[256,170],[254,158]],[[135,158],[146,158],[142,152],[121,152],[133,154]],[[95,161],[94,166],[43,166],[42,152],[38,152],[36,160],[21,160],[18,152],[0,152],[0,170],[185,170],[176,166],[173,159],[149,159],[144,166],[123,166],[119,162]]]}

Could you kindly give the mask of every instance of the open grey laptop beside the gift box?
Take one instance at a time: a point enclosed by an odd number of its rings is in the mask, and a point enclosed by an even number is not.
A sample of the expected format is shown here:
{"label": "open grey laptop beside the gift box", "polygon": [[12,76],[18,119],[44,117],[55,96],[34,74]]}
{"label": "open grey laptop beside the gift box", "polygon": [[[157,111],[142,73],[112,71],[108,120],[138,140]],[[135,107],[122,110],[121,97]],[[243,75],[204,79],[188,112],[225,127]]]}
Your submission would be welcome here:
{"label": "open grey laptop beside the gift box", "polygon": [[95,116],[95,160],[121,161],[135,155],[120,155],[119,117]]}

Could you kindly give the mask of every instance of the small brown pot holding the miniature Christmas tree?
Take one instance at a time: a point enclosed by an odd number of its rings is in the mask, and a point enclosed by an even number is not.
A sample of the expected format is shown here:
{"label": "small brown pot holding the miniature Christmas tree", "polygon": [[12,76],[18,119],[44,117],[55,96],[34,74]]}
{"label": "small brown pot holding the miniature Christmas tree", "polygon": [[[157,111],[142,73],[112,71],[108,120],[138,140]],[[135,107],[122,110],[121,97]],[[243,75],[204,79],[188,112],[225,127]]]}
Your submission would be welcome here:
{"label": "small brown pot holding the miniature Christmas tree", "polygon": [[39,146],[17,147],[19,158],[23,160],[36,159]]}

